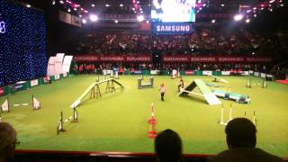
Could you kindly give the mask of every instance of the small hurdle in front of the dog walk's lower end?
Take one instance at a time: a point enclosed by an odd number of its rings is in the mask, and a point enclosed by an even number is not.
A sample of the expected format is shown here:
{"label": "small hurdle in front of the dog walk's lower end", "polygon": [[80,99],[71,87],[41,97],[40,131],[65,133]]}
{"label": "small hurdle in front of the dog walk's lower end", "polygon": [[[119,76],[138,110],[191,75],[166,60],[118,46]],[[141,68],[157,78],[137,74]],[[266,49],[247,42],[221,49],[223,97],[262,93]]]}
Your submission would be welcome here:
{"label": "small hurdle in front of the dog walk's lower end", "polygon": [[64,129],[64,124],[67,123],[68,121],[78,122],[78,112],[76,108],[73,108],[72,116],[68,117],[66,120],[63,120],[63,112],[60,112],[60,118],[58,119],[58,126],[57,126],[57,134],[66,131]]}

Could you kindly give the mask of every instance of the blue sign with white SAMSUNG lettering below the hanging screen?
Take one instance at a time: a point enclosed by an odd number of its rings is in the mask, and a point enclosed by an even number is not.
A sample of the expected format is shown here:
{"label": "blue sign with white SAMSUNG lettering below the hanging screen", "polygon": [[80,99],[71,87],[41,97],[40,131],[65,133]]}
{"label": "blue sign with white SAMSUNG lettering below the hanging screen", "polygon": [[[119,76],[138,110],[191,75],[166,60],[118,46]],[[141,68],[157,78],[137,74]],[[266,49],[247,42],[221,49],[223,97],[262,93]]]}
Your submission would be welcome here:
{"label": "blue sign with white SAMSUNG lettering below the hanging screen", "polygon": [[192,23],[154,23],[153,31],[157,34],[179,34],[193,31]]}

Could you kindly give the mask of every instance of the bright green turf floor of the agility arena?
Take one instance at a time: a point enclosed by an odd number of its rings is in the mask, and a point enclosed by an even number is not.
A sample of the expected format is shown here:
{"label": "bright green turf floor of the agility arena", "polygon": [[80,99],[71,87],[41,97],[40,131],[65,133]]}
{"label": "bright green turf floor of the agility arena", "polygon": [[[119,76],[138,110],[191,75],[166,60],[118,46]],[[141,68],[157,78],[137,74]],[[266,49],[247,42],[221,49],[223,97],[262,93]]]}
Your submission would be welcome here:
{"label": "bright green turf floor of the agility arena", "polygon": [[[70,105],[95,80],[94,75],[71,76],[51,85],[40,85],[29,90],[10,94],[10,105],[31,103],[33,94],[41,103],[39,111],[30,106],[12,107],[2,114],[18,131],[19,149],[49,149],[76,151],[129,151],[153,152],[153,139],[148,138],[150,104],[155,105],[157,131],[172,129],[179,133],[184,143],[184,153],[217,154],[227,148],[224,126],[220,119],[221,105],[210,106],[200,96],[176,96],[178,79],[155,76],[154,88],[137,89],[138,76],[120,76],[124,88],[115,85],[114,93],[85,101],[77,107],[79,121],[64,124],[66,132],[57,135],[58,118],[72,115]],[[221,76],[229,84],[213,83],[231,88],[231,92],[246,94],[251,103],[241,104],[220,99],[224,103],[224,121],[229,118],[232,103],[233,117],[253,119],[257,114],[257,147],[280,157],[288,157],[288,85],[268,82],[268,88],[260,85],[246,88],[246,76]],[[210,76],[184,76],[187,85],[193,79],[211,83]],[[148,82],[148,76],[144,77]],[[164,82],[167,92],[165,101],[160,100],[158,85]],[[253,83],[261,83],[253,77]],[[6,96],[0,97],[3,103]]]}

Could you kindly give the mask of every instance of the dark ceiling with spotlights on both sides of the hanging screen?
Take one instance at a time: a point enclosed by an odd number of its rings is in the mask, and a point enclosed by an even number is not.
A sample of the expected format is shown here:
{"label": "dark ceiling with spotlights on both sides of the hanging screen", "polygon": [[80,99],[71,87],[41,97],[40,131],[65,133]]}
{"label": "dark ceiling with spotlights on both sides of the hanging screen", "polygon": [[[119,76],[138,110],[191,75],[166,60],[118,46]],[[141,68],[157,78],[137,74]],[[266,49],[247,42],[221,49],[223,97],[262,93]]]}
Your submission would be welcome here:
{"label": "dark ceiling with spotlights on both sides of the hanging screen", "polygon": [[[85,16],[88,14],[150,14],[151,0],[17,0],[22,3],[31,4],[38,8],[46,10],[63,10],[70,14]],[[61,2],[62,1],[62,2]],[[287,8],[287,0],[196,0],[196,10],[201,14],[238,14],[242,12],[247,14],[247,10],[251,10],[249,17],[252,18],[254,14],[269,12],[271,8],[275,10],[284,5]],[[73,7],[75,4],[77,10]],[[135,6],[137,5],[137,6]],[[261,7],[261,6],[264,7]],[[257,11],[253,8],[257,6]],[[83,11],[87,11],[85,14]],[[260,8],[262,8],[260,10]],[[246,15],[247,16],[247,15]],[[198,19],[199,20],[199,19]]]}

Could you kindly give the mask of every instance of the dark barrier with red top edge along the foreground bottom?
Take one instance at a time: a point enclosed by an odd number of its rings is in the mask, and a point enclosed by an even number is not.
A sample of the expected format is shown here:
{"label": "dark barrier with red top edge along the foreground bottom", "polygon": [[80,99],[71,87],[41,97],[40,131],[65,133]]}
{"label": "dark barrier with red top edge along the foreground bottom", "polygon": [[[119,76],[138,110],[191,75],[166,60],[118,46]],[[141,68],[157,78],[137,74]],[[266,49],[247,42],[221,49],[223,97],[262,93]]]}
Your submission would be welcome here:
{"label": "dark barrier with red top edge along the foreground bottom", "polygon": [[[185,162],[204,162],[214,155],[185,154]],[[15,162],[151,162],[157,161],[154,153],[130,152],[85,152],[85,151],[51,151],[51,150],[16,150]],[[288,162],[287,158],[284,158]]]}

